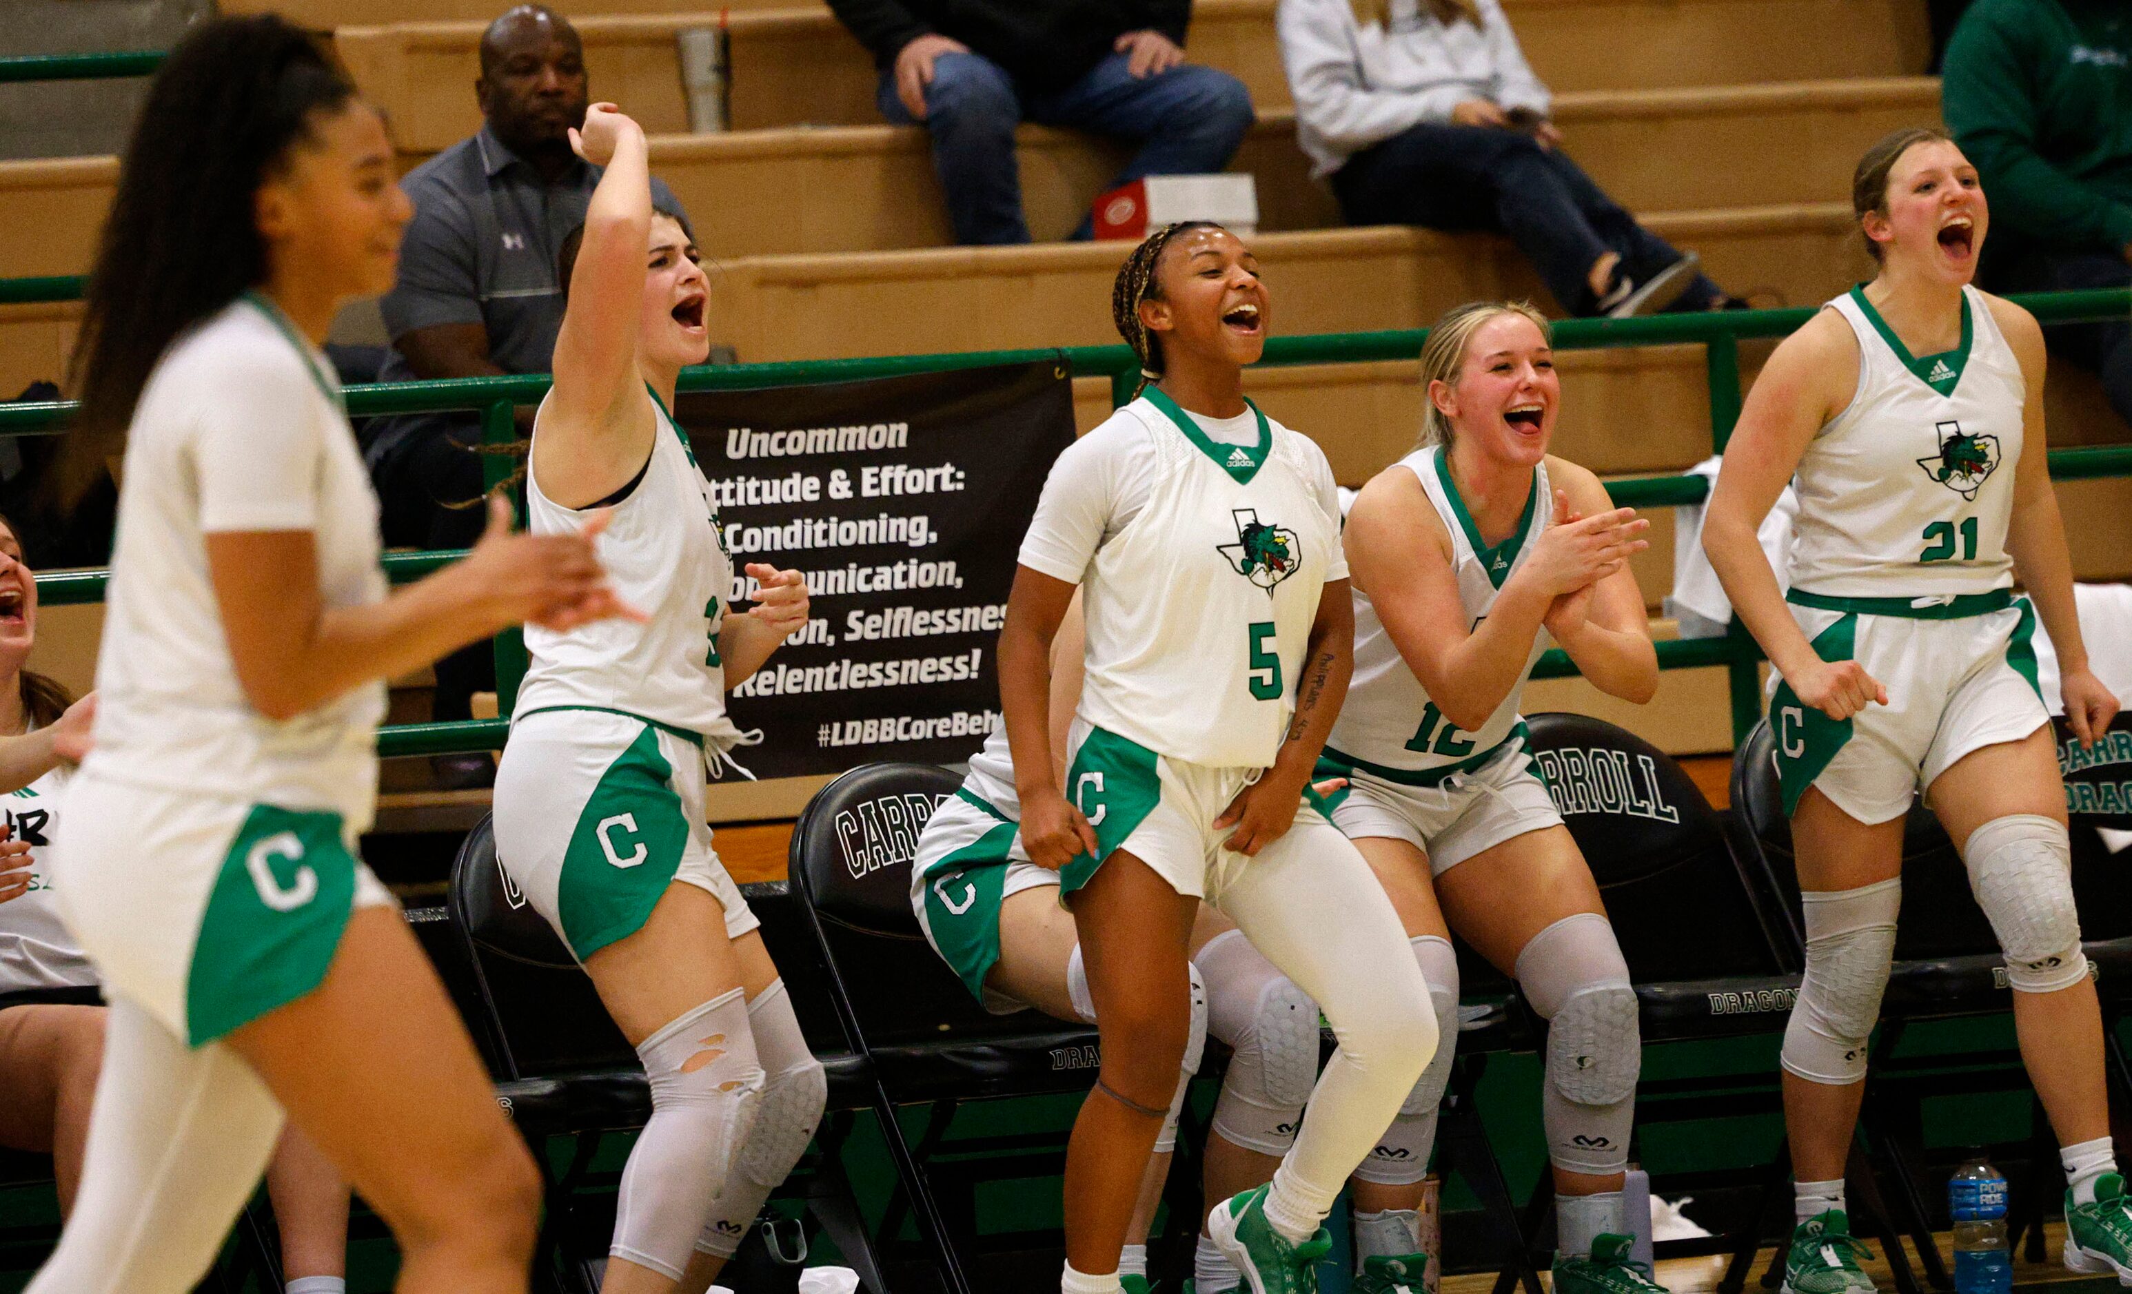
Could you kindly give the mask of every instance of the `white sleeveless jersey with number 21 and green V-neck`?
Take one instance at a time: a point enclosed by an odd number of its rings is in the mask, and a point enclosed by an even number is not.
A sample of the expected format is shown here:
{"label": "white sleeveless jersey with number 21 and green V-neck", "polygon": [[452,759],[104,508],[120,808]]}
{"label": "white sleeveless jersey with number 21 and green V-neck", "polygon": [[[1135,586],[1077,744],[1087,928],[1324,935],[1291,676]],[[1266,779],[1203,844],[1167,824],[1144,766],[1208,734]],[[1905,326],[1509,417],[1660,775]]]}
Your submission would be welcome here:
{"label": "white sleeveless jersey with number 21 and green V-neck", "polygon": [[2010,586],[2028,382],[1985,294],[1961,288],[1961,347],[1921,360],[1861,288],[1829,307],[1857,333],[1859,386],[1799,458],[1791,586],[1825,597]]}

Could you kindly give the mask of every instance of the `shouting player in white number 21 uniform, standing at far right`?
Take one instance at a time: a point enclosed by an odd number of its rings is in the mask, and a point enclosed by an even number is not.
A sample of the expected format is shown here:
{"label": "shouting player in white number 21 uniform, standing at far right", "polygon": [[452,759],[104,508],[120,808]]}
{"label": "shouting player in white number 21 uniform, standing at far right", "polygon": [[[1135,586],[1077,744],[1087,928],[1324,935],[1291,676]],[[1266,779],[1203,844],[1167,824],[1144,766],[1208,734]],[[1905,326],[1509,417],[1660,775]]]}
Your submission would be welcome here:
{"label": "shouting player in white number 21 uniform, standing at far right", "polygon": [[[2030,650],[2040,614],[2066,718],[2081,740],[2100,733],[2117,701],[2087,669],[2072,608],[2045,463],[2042,330],[1970,286],[1989,213],[1976,171],[1938,130],[1868,149],[1853,207],[1880,273],[1770,356],[1703,527],[1778,674],[1770,727],[1806,891],[1806,981],[1782,1053],[1799,1219],[1787,1288],[1870,1288],[1851,1258],[1842,1175],[1919,789],[2006,951],[2021,1055],[2072,1181],[2066,1266],[2132,1281],[2066,791]],[[1793,475],[1787,597],[1755,527]]]}

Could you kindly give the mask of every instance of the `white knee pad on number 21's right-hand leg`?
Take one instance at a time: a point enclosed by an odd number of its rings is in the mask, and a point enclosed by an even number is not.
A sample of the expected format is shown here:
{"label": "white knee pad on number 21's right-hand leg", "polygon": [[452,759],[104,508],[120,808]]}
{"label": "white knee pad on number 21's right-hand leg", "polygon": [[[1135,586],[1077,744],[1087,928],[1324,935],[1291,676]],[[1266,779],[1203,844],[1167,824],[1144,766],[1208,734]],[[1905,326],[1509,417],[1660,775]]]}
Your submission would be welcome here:
{"label": "white knee pad on number 21's right-hand leg", "polygon": [[2032,812],[1991,819],[1970,831],[1961,861],[2017,993],[2055,993],[2087,978],[2072,910],[2072,840],[2062,825]]}

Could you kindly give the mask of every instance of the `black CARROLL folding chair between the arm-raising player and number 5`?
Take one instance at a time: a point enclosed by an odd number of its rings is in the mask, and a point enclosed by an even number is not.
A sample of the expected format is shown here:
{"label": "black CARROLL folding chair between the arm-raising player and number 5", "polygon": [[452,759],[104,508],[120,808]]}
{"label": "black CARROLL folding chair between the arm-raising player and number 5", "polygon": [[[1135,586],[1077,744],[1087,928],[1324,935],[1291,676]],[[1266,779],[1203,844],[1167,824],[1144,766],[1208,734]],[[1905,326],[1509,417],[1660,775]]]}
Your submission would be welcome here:
{"label": "black CARROLL folding chair between the arm-raising player and number 5", "polygon": [[[976,1172],[1028,1177],[1038,1162],[1055,1170],[1062,1151],[1051,1138],[1055,1149],[1040,1158],[985,1160],[962,1170],[936,1162],[955,1106],[1085,1091],[1100,1064],[1094,1030],[1034,1010],[989,1015],[925,944],[910,912],[910,859],[925,819],[959,782],[925,763],[855,767],[814,795],[791,846],[791,883],[806,900],[844,1040],[870,1064],[883,1138],[949,1294],[998,1283],[976,1281],[970,1271],[981,1256]],[[898,1121],[898,1109],[908,1104],[932,1106],[917,1145]],[[1032,1138],[1006,1149],[1032,1149]],[[944,1190],[949,1179],[957,1190]]]}

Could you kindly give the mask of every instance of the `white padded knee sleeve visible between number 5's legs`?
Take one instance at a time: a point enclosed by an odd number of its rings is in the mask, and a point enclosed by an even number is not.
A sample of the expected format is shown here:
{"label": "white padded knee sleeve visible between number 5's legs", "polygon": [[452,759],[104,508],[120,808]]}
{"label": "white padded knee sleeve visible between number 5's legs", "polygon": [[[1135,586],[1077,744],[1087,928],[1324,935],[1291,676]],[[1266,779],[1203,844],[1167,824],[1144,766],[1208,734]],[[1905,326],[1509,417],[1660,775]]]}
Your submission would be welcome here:
{"label": "white padded knee sleeve visible between number 5's legs", "polygon": [[1318,1083],[1318,1004],[1239,929],[1207,940],[1194,961],[1207,981],[1207,1032],[1230,1047],[1213,1130],[1286,1155]]}

